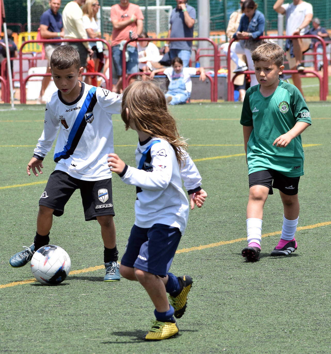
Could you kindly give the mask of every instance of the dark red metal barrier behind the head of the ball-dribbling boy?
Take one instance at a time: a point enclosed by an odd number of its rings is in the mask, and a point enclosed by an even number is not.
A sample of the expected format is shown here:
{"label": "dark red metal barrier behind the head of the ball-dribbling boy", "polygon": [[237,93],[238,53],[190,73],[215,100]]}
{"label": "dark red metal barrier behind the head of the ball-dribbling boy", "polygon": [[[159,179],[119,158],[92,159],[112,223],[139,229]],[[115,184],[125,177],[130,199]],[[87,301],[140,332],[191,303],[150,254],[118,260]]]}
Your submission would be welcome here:
{"label": "dark red metal barrier behind the head of the ball-dribbling boy", "polygon": [[[108,53],[109,56],[111,57],[112,54],[112,48],[110,46],[110,44],[105,40],[105,39],[96,39],[94,38],[93,40],[91,39],[63,39],[62,42],[103,42],[107,45],[108,47]],[[25,79],[23,79],[23,63],[22,63],[22,49],[24,48],[25,45],[29,44],[29,43],[58,43],[59,40],[58,39],[42,39],[42,40],[30,40],[30,41],[25,41],[22,43],[21,48],[19,48],[19,84],[21,86],[21,103],[26,103],[26,83],[27,80],[29,80],[32,76],[50,76],[49,73],[45,73],[45,74],[33,74],[33,75],[28,75]],[[86,55],[87,56],[87,55]],[[109,79],[106,78],[105,75],[103,75],[102,73],[97,73],[97,72],[86,72],[83,73],[84,76],[87,75],[98,75],[98,76],[102,76],[105,81],[106,81],[106,88],[108,90],[111,90],[112,87],[112,65],[109,65]]]}

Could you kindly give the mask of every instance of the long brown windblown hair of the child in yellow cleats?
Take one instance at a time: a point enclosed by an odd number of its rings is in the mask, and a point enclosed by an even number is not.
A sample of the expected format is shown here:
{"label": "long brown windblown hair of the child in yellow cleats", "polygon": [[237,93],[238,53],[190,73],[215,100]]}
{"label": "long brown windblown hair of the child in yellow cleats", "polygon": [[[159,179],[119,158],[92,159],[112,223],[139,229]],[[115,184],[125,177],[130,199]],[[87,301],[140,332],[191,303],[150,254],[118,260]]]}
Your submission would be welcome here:
{"label": "long brown windblown hair of the child in yellow cleats", "polygon": [[151,81],[137,80],[123,92],[122,120],[129,129],[129,119],[139,131],[166,140],[174,149],[177,161],[185,161],[187,144],[179,136],[176,121],[169,113],[164,93]]}

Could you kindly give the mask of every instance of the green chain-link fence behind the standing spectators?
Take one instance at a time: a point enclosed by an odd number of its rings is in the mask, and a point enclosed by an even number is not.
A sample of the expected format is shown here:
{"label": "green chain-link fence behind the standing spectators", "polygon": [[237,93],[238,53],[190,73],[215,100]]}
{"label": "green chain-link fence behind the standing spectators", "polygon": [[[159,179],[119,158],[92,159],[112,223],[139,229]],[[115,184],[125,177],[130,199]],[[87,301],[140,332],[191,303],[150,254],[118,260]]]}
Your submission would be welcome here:
{"label": "green chain-link fence behind the standing spectators", "polygon": [[[208,1],[208,0],[206,0]],[[264,13],[266,19],[265,31],[275,32],[277,30],[277,13],[273,10],[276,0],[255,0],[258,4],[258,10]],[[69,0],[62,0],[60,12]],[[102,32],[111,34],[112,25],[109,19],[110,7],[118,4],[119,0],[100,0]],[[131,0],[132,3],[142,7],[145,13],[145,6],[159,5],[162,8],[151,9],[147,13],[147,29],[150,33],[158,34],[168,30],[169,11],[176,7],[175,0]],[[291,2],[290,0],[285,0]],[[331,2],[330,0],[309,0],[314,8],[314,17],[318,17],[321,26],[327,29],[331,28]],[[41,14],[49,8],[48,0],[31,0],[31,31],[37,31]],[[189,0],[188,4],[195,7],[198,12],[198,1]],[[230,14],[239,8],[239,0],[210,0],[210,30],[211,35],[215,33],[224,33]],[[26,32],[28,30],[27,2],[18,0],[5,0],[7,27],[16,33]],[[145,21],[146,22],[146,21]],[[199,24],[195,25],[195,32],[198,33]],[[2,29],[1,29],[2,32]],[[107,39],[107,38],[106,38]]]}

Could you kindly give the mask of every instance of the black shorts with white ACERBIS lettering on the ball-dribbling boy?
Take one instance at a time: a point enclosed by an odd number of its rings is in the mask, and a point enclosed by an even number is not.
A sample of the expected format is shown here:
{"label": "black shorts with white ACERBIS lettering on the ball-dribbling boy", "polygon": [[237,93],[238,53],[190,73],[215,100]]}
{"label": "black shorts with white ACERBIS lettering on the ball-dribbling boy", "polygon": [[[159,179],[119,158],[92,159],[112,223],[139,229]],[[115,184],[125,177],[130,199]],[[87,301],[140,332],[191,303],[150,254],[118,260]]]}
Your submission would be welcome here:
{"label": "black shorts with white ACERBIS lettering on the ball-dribbling boy", "polygon": [[53,215],[61,216],[76,189],[80,189],[86,221],[95,220],[97,216],[115,215],[111,178],[83,181],[58,170],[51,173],[39,205],[54,209]]}

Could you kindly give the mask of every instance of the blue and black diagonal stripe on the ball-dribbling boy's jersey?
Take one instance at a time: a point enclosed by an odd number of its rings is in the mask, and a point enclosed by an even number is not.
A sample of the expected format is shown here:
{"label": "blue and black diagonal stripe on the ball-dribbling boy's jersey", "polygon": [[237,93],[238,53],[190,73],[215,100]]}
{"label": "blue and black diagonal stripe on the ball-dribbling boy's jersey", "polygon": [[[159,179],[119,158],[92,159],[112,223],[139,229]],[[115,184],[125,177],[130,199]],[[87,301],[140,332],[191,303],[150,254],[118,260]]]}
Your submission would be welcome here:
{"label": "blue and black diagonal stripe on the ball-dribbling boy's jersey", "polygon": [[80,108],[77,118],[69,133],[67,144],[63,147],[63,150],[61,152],[54,154],[55,162],[58,162],[61,159],[68,159],[77,147],[79,139],[83,135],[84,129],[87,124],[84,115],[86,112],[92,112],[93,107],[97,102],[95,91],[96,87],[92,87],[86,95],[85,101],[82,104],[82,108]]}

